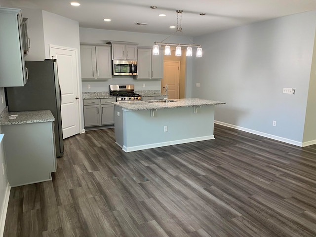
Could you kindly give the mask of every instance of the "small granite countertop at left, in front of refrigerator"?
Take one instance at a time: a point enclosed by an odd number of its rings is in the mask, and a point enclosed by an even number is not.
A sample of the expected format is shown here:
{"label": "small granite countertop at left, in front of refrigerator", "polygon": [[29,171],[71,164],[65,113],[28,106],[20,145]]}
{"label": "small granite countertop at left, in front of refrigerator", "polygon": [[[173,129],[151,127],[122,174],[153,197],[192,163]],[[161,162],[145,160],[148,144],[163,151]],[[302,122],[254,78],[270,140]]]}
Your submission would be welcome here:
{"label": "small granite countertop at left, in front of refrigerator", "polygon": [[[10,115],[18,115],[18,116],[14,119],[10,119],[9,118]],[[50,122],[50,121],[55,121],[55,118],[50,112],[50,110],[8,112],[6,108],[0,115],[0,125]]]}

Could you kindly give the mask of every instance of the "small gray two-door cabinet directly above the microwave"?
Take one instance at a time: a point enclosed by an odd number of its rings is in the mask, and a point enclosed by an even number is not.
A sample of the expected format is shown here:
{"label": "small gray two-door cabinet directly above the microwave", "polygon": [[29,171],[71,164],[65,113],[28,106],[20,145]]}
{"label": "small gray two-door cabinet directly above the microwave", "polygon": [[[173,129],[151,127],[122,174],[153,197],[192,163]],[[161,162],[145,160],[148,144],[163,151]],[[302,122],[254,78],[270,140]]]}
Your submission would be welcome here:
{"label": "small gray two-door cabinet directly above the microwave", "polygon": [[113,60],[137,60],[137,44],[112,44],[112,59]]}

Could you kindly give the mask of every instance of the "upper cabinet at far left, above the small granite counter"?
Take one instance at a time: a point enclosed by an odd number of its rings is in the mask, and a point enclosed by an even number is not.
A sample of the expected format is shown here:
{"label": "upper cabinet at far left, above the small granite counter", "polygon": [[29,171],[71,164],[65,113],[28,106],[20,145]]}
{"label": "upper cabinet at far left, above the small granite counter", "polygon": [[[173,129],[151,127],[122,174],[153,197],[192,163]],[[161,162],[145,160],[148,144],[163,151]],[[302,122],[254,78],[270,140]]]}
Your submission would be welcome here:
{"label": "upper cabinet at far left, above the small granite counter", "polygon": [[23,29],[20,9],[0,7],[0,87],[26,83]]}

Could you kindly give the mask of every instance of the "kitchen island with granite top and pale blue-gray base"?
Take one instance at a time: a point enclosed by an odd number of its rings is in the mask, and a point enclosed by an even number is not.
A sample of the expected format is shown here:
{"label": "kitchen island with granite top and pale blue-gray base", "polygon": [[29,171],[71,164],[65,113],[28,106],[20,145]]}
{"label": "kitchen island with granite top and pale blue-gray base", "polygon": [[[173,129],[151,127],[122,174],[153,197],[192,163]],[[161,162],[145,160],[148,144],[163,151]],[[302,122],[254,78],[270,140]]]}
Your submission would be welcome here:
{"label": "kitchen island with granite top and pale blue-gray base", "polygon": [[125,152],[214,139],[215,105],[204,99],[114,102],[115,138]]}

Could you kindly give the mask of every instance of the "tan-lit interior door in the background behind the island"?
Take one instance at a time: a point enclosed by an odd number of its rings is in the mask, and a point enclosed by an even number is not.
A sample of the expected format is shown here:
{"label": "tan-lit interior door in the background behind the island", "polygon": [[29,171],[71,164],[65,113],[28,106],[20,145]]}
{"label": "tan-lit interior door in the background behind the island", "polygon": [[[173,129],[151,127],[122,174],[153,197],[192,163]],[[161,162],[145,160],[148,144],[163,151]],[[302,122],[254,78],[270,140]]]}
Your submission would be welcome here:
{"label": "tan-lit interior door in the background behind the island", "polygon": [[163,62],[163,79],[161,80],[161,93],[165,94],[168,85],[168,99],[179,99],[180,62]]}

